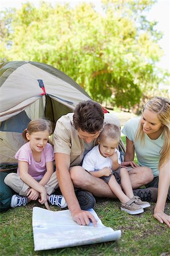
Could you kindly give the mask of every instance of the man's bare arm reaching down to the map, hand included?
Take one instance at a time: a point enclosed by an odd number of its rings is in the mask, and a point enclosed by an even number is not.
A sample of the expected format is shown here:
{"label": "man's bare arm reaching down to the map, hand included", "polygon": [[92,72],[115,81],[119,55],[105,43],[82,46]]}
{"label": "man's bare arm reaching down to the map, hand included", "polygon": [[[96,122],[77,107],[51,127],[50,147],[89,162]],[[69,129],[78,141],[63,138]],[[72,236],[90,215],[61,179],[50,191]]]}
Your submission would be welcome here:
{"label": "man's bare arm reaching down to the map, hand included", "polygon": [[89,225],[90,220],[92,220],[93,225],[96,226],[97,222],[93,215],[88,211],[81,210],[75,195],[73,182],[69,174],[70,156],[63,153],[55,153],[55,162],[59,186],[67,201],[73,220],[79,225]]}

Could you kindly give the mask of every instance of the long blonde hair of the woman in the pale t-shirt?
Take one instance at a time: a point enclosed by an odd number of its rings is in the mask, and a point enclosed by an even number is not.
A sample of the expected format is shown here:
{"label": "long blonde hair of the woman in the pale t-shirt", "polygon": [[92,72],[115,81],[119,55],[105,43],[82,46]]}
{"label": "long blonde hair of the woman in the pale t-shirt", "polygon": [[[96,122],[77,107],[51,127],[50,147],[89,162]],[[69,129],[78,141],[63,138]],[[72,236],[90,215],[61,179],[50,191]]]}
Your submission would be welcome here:
{"label": "long blonde hair of the woman in the pale t-shirt", "polygon": [[[155,97],[146,103],[144,110],[147,109],[156,113],[163,127],[164,144],[160,151],[160,160],[158,168],[160,169],[169,159],[170,156],[170,100],[163,97]],[[135,140],[140,139],[144,143],[144,133],[142,123],[139,123],[136,131]]]}

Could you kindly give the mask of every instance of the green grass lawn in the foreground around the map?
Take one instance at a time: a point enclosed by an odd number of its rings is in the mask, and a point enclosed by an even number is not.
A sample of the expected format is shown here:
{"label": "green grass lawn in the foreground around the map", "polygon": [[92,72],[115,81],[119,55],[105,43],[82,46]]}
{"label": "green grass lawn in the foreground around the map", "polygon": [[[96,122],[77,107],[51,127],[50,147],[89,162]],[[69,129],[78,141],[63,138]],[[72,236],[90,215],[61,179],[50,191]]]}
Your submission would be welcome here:
{"label": "green grass lawn in the foreground around the map", "polygon": [[[123,117],[123,122],[126,118]],[[125,137],[122,139],[125,142]],[[32,233],[32,208],[42,205],[32,202],[26,207],[10,209],[0,214],[0,255],[170,255],[170,229],[152,217],[155,203],[151,203],[150,208],[136,216],[121,211],[119,205],[118,200],[97,199],[94,207],[104,225],[122,230],[122,237],[118,241],[36,252]],[[51,210],[60,209],[51,206]],[[169,201],[165,212],[170,215]]]}

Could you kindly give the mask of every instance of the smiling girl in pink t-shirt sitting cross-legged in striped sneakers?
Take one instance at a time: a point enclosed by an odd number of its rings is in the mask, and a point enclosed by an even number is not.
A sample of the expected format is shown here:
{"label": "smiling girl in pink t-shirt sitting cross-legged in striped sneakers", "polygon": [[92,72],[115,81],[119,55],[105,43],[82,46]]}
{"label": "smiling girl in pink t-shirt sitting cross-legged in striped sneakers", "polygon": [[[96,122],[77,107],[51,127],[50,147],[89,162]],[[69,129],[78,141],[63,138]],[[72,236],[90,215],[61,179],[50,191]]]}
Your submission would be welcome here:
{"label": "smiling girl in pink t-shirt sitting cross-legged in striped sneakers", "polygon": [[59,186],[56,173],[53,172],[53,147],[48,143],[51,133],[51,123],[41,118],[32,120],[23,131],[22,135],[27,143],[15,154],[18,159],[17,174],[8,174],[4,180],[5,184],[19,194],[11,198],[12,208],[37,199],[47,209],[48,201],[60,208],[67,207],[63,196],[52,195]]}

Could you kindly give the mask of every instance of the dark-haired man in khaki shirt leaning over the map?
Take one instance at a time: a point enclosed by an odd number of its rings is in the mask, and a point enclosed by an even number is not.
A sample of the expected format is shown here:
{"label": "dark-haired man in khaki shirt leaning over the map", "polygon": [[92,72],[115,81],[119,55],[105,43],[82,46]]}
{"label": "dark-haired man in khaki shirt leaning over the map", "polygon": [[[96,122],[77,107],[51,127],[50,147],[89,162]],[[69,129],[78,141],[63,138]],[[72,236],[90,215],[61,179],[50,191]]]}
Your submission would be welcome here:
{"label": "dark-haired man in khaki shirt leaning over the map", "polygon": [[93,225],[97,223],[92,214],[81,209],[74,187],[92,192],[94,196],[115,198],[105,181],[93,177],[81,167],[84,155],[97,144],[104,119],[120,127],[115,115],[107,113],[104,117],[101,105],[88,100],[80,102],[74,114],[64,115],[56,122],[53,138],[57,179],[73,220],[79,225],[89,225],[90,221]]}

